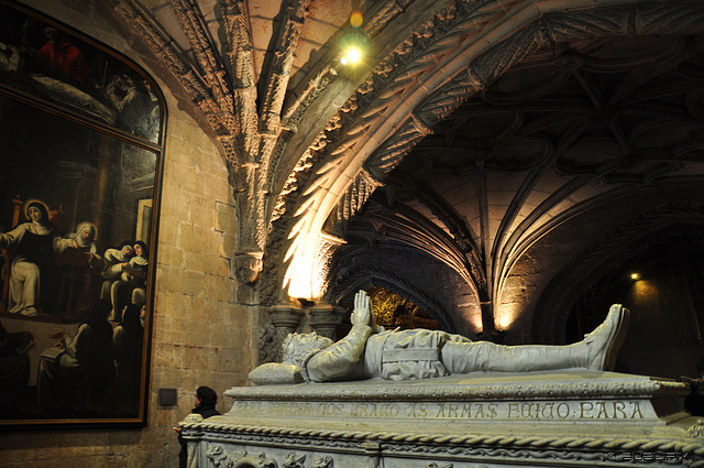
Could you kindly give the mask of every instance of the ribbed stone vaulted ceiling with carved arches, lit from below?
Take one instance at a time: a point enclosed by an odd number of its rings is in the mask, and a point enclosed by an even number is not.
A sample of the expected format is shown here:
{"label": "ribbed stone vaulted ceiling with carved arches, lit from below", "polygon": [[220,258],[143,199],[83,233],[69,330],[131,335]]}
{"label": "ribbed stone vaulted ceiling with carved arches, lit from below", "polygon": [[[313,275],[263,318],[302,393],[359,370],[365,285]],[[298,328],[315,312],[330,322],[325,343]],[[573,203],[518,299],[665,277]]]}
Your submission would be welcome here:
{"label": "ribbed stone vaulted ceiling with carved arches, lit from below", "polygon": [[700,216],[698,0],[111,4],[220,145],[243,302],[376,285],[557,339],[604,259]]}

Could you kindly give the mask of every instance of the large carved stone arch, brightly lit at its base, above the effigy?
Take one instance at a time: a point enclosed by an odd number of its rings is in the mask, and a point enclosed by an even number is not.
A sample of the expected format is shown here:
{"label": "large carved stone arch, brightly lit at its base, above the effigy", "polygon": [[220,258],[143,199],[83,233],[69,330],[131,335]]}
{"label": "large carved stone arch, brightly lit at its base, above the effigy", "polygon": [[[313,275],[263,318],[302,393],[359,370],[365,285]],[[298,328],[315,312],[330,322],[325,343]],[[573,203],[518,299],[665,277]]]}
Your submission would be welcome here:
{"label": "large carved stone arch, brightly lit at its base, above the effigy", "polygon": [[[306,154],[310,167],[297,178],[300,188],[279,198],[295,207],[285,215],[292,217],[283,224],[286,235],[277,236],[287,258],[292,264],[302,259],[302,274],[314,276],[318,239],[351,187],[360,179],[383,184],[433,124],[537,47],[581,37],[693,34],[702,31],[702,17],[703,6],[694,1],[448,4],[427,23],[431,29],[417,31],[373,72]],[[370,193],[356,195],[354,206],[363,206]],[[344,213],[352,217],[356,210]],[[501,264],[501,251],[493,257],[495,301],[509,269]]]}

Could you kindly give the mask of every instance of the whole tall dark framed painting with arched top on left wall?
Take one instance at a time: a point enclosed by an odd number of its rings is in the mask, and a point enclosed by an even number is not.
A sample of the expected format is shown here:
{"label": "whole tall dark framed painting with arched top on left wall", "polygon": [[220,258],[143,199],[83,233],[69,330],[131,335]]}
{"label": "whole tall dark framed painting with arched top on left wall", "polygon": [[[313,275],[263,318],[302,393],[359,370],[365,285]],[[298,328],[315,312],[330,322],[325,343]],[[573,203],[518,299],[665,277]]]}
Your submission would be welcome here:
{"label": "whole tall dark framed painting with arched top on left wall", "polygon": [[144,425],[164,105],[0,0],[0,429]]}

